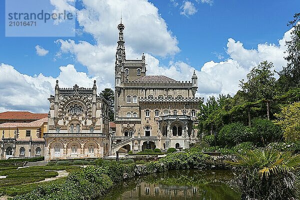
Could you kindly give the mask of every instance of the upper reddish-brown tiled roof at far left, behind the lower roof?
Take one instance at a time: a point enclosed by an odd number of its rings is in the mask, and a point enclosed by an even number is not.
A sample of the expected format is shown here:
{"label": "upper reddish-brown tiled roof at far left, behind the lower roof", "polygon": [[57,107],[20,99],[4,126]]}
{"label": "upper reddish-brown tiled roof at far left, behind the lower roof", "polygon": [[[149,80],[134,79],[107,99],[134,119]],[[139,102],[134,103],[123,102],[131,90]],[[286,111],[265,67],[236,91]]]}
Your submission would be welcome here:
{"label": "upper reddish-brown tiled roof at far left, behind the lower roof", "polygon": [[48,117],[47,113],[31,113],[28,111],[0,112],[0,119],[41,119]]}

